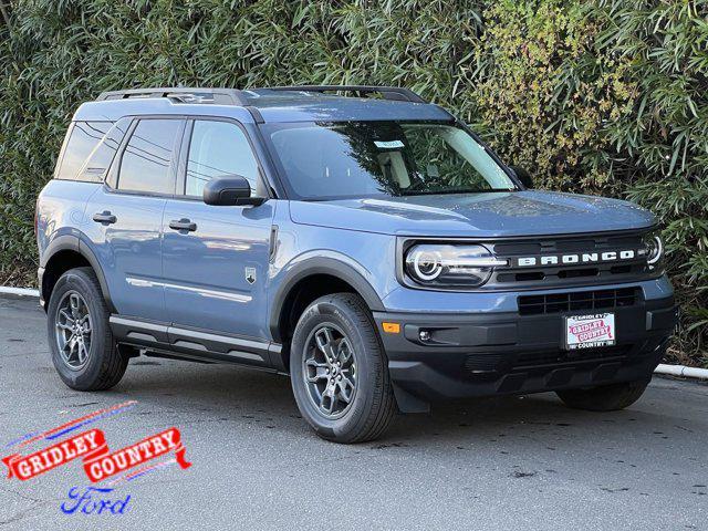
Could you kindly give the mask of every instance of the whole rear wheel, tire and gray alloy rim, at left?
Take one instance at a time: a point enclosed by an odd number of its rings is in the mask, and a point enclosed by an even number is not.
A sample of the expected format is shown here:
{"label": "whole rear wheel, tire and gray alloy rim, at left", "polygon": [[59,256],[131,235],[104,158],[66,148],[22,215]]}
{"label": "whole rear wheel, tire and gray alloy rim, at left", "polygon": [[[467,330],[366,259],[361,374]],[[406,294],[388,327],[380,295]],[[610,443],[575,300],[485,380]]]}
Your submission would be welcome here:
{"label": "whole rear wheel, tire and gray alloy rim, at left", "polygon": [[108,325],[110,312],[91,268],[66,271],[56,281],[46,310],[52,362],[72,389],[116,385],[128,363]]}

